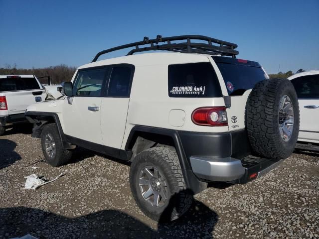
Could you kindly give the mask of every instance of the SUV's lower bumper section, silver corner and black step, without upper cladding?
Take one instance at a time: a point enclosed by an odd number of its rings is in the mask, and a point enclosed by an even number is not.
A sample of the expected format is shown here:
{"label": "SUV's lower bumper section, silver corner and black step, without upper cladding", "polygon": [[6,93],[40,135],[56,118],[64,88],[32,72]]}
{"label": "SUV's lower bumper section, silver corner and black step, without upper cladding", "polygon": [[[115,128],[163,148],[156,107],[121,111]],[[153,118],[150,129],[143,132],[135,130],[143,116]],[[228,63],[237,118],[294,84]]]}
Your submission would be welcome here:
{"label": "SUV's lower bumper section, silver corner and black step, without upper cladding", "polygon": [[[249,161],[248,164],[247,161]],[[193,173],[198,178],[205,181],[239,184],[245,184],[263,176],[282,161],[272,161],[251,155],[241,160],[232,157],[219,159],[190,157]]]}

